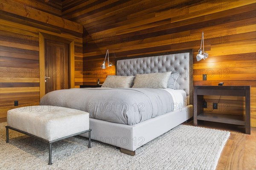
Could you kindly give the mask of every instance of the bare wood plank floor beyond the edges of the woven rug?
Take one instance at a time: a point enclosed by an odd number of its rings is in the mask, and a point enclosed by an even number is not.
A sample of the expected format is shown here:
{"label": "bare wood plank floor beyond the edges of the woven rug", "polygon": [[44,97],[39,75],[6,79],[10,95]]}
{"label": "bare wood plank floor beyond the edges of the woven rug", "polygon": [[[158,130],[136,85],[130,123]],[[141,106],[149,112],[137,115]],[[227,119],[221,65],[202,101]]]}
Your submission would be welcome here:
{"label": "bare wood plank floor beyond the edges of the woven rug", "polygon": [[[6,122],[6,118],[0,122]],[[193,125],[193,121],[183,125]],[[251,127],[251,134],[247,135],[242,126],[203,121],[199,121],[198,126],[230,131],[216,170],[256,170],[256,127]]]}

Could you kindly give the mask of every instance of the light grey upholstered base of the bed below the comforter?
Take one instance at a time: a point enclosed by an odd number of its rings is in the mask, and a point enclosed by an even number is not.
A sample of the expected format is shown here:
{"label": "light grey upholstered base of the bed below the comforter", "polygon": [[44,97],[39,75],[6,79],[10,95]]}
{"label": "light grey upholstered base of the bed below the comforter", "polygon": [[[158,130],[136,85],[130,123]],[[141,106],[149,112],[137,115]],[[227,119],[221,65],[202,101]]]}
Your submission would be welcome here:
{"label": "light grey upholstered base of the bed below the comforter", "polygon": [[[136,125],[123,125],[90,118],[91,139],[134,151],[180,125],[193,115],[193,106],[148,119]],[[88,134],[81,134],[88,137]]]}

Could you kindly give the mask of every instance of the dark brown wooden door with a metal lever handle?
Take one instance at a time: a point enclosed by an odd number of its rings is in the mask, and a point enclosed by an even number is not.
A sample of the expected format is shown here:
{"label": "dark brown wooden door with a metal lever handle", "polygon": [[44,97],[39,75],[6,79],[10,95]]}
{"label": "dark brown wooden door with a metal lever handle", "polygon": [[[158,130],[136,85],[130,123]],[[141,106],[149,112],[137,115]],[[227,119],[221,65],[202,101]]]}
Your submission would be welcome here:
{"label": "dark brown wooden door with a metal lever handle", "polygon": [[45,40],[45,94],[70,88],[69,45]]}

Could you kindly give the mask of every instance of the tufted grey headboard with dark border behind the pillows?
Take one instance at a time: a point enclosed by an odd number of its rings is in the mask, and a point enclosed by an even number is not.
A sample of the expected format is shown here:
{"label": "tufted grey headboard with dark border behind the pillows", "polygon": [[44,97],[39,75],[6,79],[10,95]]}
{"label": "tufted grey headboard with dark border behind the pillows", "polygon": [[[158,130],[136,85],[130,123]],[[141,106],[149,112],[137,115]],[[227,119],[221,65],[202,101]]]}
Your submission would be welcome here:
{"label": "tufted grey headboard with dark border behind the pillows", "polygon": [[186,91],[189,103],[193,103],[193,50],[174,51],[116,60],[117,76],[136,76],[136,74],[180,73],[177,89]]}

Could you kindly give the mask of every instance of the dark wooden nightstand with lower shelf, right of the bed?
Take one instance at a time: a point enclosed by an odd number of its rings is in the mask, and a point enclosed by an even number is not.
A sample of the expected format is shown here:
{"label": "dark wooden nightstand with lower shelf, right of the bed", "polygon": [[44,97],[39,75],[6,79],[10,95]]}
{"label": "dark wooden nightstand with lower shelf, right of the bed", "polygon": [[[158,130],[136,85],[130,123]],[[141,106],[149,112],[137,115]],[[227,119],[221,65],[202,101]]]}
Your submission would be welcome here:
{"label": "dark wooden nightstand with lower shelf, right of the bed", "polygon": [[[245,96],[245,116],[204,113],[204,95]],[[245,133],[250,134],[250,86],[194,86],[194,125],[198,120],[220,122],[245,126]]]}

